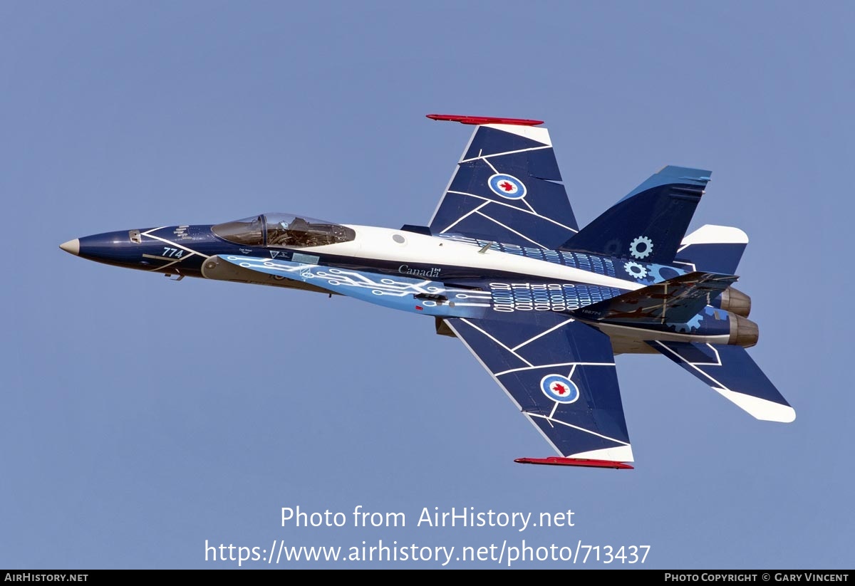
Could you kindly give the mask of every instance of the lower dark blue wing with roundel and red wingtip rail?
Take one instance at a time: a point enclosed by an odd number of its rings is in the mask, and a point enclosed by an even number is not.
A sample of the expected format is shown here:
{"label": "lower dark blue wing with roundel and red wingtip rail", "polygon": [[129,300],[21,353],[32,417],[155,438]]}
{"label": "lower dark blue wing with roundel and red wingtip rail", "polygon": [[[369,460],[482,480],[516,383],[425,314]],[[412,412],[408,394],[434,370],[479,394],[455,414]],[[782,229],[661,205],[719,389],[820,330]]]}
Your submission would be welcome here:
{"label": "lower dark blue wing with roundel and red wingtip rail", "polygon": [[622,465],[633,454],[609,337],[546,312],[445,321],[563,456],[517,461],[631,467]]}

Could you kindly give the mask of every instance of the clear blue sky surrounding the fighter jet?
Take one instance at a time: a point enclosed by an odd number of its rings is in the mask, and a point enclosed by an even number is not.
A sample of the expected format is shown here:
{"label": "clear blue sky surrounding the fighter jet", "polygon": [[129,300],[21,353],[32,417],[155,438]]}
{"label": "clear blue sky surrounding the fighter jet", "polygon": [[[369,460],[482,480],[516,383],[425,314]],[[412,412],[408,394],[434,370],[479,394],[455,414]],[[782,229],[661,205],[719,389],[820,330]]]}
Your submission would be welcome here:
{"label": "clear blue sky surrounding the fighter jet", "polygon": [[[634,567],[851,568],[853,17],[834,2],[0,3],[0,567],[237,566],[206,561],[206,540],[455,555],[524,540],[650,546]],[[470,132],[433,112],[545,120],[582,225],[663,165],[712,169],[692,227],[751,237],[751,354],[795,422],[619,356],[635,470],[520,466],[551,448],[429,319],[57,248],[277,211],[424,224]],[[354,527],[357,506],[406,526]],[[282,507],[348,523],[283,527]],[[417,526],[433,507],[572,510],[574,526]]]}

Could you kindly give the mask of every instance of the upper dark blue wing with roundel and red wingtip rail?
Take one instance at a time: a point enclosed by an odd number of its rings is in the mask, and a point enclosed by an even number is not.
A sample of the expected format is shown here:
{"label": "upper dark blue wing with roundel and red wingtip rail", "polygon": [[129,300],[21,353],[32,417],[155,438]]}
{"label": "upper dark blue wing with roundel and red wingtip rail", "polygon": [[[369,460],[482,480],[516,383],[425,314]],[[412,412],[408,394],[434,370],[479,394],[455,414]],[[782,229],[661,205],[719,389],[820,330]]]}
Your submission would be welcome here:
{"label": "upper dark blue wing with roundel and red wingtip rail", "polygon": [[549,132],[538,120],[434,120],[475,124],[457,170],[430,221],[432,234],[556,249],[578,231]]}

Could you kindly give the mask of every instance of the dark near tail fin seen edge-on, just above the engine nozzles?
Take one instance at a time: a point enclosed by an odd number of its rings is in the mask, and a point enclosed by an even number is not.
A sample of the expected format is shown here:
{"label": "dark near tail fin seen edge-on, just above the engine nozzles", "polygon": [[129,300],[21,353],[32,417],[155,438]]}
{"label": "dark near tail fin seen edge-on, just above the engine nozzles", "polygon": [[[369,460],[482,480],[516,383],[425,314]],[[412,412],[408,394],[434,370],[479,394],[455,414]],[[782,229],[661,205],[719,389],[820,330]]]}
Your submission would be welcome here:
{"label": "dark near tail fin seen edge-on, just above the engine nozzles", "polygon": [[689,272],[576,309],[573,314],[580,319],[638,325],[683,323],[709,305],[737,278],[716,272]]}

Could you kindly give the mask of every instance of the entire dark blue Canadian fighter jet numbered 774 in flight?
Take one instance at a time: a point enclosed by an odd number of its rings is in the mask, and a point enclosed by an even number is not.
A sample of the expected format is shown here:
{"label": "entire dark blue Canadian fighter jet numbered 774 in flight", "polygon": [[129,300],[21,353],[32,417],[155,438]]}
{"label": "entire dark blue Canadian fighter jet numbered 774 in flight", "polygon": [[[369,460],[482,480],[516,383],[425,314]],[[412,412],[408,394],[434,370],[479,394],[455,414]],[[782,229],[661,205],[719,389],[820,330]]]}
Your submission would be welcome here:
{"label": "entire dark blue Canadian fighter jet numbered 774 in flight", "polygon": [[709,171],[663,167],[580,229],[540,120],[428,118],[475,126],[428,226],[261,214],[61,248],[178,280],[268,284],[430,316],[558,454],[516,462],[632,468],[619,354],[665,355],[757,419],[795,419],[746,352],[758,326],[733,286],[745,232],[686,234]]}

